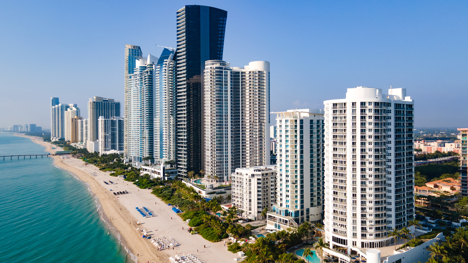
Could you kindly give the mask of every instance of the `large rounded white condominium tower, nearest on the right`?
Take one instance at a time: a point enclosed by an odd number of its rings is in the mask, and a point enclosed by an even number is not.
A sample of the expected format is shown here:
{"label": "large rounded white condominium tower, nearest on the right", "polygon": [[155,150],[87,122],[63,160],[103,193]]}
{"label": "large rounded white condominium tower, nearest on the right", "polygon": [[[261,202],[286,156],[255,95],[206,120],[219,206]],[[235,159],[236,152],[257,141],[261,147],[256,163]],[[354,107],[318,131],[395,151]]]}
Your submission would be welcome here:
{"label": "large rounded white condominium tower, nearest on the right", "polygon": [[414,102],[404,88],[358,87],[323,103],[326,241],[348,255],[392,245],[388,230],[414,216]]}

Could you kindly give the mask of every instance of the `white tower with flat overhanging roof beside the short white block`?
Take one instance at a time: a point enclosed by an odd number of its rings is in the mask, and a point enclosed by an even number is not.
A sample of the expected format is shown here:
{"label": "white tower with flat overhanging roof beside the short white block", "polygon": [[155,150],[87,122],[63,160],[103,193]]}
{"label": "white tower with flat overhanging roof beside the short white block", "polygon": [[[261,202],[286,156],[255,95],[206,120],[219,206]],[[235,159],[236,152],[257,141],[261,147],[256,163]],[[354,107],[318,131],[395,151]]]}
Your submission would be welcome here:
{"label": "white tower with flat overhanging roof beside the short white block", "polygon": [[276,203],[269,229],[317,222],[323,212],[323,111],[275,112],[277,125]]}

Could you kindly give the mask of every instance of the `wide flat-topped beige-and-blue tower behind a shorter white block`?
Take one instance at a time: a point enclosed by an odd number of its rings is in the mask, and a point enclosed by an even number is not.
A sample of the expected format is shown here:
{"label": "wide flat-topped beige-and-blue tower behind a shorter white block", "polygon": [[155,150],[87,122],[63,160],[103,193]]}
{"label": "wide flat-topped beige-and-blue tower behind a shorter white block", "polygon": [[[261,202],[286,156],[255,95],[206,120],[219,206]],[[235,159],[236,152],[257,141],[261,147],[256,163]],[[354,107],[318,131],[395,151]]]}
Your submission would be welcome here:
{"label": "wide flat-topped beige-and-blue tower behind a shorter white block", "polygon": [[89,98],[88,102],[88,140],[97,140],[97,120],[100,116],[105,118],[117,117],[120,115],[120,102],[114,99],[102,97]]}

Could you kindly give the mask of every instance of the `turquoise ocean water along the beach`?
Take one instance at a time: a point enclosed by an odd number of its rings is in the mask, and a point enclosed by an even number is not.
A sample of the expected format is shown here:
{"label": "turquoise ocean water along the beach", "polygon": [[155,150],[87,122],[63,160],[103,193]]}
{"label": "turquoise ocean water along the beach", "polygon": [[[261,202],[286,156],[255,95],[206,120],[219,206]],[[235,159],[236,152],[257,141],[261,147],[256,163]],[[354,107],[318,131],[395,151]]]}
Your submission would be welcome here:
{"label": "turquoise ocean water along the beach", "polygon": [[[44,149],[0,132],[0,155]],[[22,158],[0,158],[0,262],[133,262],[119,234],[99,217],[86,183],[52,158]]]}

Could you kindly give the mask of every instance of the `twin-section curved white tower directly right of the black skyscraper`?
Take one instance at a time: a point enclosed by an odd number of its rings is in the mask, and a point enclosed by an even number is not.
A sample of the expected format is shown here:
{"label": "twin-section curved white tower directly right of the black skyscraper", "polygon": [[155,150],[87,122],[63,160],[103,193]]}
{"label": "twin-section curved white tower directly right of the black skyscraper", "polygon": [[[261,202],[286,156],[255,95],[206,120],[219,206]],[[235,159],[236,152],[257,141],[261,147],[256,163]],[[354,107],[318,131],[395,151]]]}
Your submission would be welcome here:
{"label": "twin-section curved white tower directly right of the black skyscraper", "polygon": [[270,62],[205,63],[205,177],[224,182],[236,168],[270,164]]}

